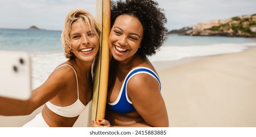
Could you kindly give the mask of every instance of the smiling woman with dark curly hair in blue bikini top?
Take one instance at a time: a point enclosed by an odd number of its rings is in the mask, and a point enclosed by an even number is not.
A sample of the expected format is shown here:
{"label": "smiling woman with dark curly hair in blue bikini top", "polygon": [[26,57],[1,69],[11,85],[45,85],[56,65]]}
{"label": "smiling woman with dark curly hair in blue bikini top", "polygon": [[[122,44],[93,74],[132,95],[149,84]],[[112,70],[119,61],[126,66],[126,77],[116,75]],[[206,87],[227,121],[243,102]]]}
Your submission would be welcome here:
{"label": "smiling woman with dark curly hair in blue bikini top", "polygon": [[147,56],[166,39],[166,18],[153,0],[111,2],[106,119],[93,127],[168,127],[160,79]]}

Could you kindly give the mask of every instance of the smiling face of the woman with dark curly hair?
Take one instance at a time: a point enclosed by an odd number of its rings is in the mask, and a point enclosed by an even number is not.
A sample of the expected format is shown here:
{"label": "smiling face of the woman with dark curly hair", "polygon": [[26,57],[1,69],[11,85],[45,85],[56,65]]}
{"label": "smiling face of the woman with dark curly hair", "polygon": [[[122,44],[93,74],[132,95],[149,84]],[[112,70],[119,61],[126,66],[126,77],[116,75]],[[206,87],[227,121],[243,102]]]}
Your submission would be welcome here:
{"label": "smiling face of the woman with dark curly hair", "polygon": [[109,49],[117,61],[129,60],[140,47],[142,38],[143,26],[140,21],[131,15],[120,15],[109,34]]}

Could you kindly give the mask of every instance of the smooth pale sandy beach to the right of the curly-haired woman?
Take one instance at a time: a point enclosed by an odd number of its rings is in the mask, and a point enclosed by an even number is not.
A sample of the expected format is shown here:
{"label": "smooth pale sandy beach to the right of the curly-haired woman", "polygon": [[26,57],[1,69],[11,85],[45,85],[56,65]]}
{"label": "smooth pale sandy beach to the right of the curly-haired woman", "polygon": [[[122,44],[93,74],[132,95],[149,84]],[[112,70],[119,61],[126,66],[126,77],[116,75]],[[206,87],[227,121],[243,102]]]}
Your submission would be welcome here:
{"label": "smooth pale sandy beach to the right of the curly-haired woman", "polygon": [[169,127],[256,127],[256,47],[153,65]]}

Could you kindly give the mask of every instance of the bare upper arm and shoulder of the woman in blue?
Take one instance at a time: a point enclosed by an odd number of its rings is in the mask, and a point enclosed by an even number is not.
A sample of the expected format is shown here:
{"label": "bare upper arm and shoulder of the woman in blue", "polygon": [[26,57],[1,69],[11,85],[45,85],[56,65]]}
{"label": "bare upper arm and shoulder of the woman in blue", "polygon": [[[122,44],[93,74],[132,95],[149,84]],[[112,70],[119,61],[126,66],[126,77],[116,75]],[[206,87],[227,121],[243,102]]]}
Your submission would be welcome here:
{"label": "bare upper arm and shoulder of the woman in blue", "polygon": [[127,87],[133,107],[148,125],[168,127],[168,114],[159,89],[159,82],[145,73],[130,78]]}

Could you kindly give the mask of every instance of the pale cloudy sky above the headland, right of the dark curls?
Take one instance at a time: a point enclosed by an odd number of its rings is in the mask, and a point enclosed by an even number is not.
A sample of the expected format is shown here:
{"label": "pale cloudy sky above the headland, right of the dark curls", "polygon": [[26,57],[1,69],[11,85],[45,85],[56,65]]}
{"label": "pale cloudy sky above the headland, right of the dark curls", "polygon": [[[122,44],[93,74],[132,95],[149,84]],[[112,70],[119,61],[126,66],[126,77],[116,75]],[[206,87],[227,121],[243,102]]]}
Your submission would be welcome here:
{"label": "pale cloudy sky above the headland, right of the dark curls", "polygon": [[209,20],[255,14],[255,0],[157,0],[165,9],[169,29]]}

